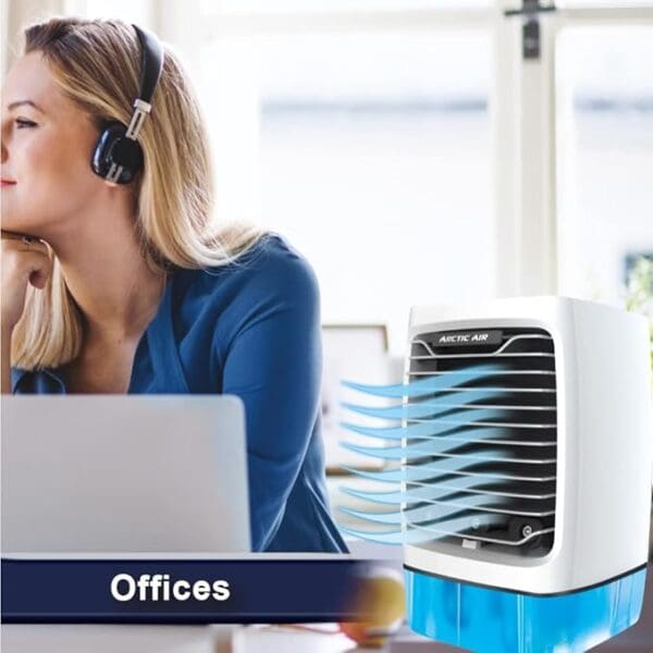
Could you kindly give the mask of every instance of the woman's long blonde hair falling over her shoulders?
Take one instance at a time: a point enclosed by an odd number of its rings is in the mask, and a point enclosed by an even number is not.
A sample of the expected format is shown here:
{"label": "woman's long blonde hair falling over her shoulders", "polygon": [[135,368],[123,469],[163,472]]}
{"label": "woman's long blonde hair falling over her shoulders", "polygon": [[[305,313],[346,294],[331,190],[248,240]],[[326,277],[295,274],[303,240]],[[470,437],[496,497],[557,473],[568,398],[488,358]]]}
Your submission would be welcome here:
{"label": "woman's long blonde hair falling over her shoulders", "polygon": [[[39,51],[59,88],[91,118],[127,124],[138,93],[140,45],[122,21],[56,17],[25,29],[24,53]],[[178,58],[168,46],[163,72],[138,140],[145,164],[132,182],[136,233],[156,271],[232,263],[264,232],[213,219],[212,173],[202,115]],[[89,160],[90,160],[90,152]],[[82,348],[84,326],[56,255],[42,291],[29,286],[12,337],[12,365],[54,368]]]}

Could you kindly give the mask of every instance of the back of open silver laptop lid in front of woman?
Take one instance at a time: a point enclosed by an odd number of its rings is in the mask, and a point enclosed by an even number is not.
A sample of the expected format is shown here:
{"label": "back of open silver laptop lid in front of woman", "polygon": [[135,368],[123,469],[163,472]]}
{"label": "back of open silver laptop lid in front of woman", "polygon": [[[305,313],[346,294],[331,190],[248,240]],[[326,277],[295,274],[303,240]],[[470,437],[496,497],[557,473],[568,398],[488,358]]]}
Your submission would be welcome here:
{"label": "back of open silver laptop lid in front of woman", "polygon": [[1,399],[2,555],[250,551],[231,395]]}

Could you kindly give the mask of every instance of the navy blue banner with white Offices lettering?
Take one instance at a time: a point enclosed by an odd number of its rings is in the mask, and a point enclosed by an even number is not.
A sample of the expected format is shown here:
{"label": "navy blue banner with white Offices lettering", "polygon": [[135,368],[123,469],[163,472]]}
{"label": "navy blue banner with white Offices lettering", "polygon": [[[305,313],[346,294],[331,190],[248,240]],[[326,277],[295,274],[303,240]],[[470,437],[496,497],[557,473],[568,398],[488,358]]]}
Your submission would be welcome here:
{"label": "navy blue banner with white Offices lettering", "polygon": [[352,621],[350,559],[2,559],[2,621]]}

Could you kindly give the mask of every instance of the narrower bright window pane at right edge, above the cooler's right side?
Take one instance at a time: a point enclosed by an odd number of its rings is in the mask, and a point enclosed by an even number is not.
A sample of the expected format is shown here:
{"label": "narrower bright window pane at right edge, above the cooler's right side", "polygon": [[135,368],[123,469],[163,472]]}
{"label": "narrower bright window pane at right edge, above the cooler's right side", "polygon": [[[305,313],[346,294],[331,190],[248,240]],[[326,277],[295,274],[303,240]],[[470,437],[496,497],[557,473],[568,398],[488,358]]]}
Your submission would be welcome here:
{"label": "narrower bright window pane at right edge, above the cooler's right side", "polygon": [[559,45],[560,289],[621,306],[653,254],[653,27],[565,30]]}

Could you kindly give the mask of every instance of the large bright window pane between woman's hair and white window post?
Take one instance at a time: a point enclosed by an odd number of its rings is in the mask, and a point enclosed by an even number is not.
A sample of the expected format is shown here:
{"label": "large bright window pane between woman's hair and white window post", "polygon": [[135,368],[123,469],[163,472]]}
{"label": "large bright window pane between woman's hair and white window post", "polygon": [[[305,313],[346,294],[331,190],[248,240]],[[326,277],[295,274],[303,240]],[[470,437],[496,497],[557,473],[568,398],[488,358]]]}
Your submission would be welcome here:
{"label": "large bright window pane between woman's hair and white window post", "polygon": [[[398,353],[412,304],[489,297],[489,38],[336,33],[250,47],[249,197],[313,264],[323,320],[386,322]],[[234,61],[227,47],[214,57]],[[224,74],[214,69],[214,88]]]}

